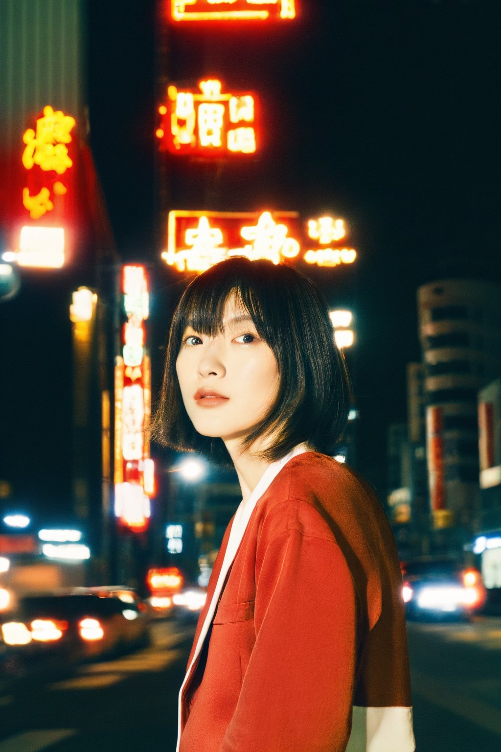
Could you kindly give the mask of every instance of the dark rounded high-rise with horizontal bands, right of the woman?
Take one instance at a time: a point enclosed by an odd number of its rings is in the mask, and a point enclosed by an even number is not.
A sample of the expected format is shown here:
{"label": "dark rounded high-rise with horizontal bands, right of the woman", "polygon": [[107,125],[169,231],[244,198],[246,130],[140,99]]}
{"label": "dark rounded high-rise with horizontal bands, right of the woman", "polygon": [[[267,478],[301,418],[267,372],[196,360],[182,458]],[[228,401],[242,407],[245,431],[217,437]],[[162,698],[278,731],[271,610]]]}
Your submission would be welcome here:
{"label": "dark rounded high-rise with horizontal bands, right of the woman", "polygon": [[477,394],[499,374],[501,286],[439,280],[418,290],[430,511],[461,544],[480,526]]}

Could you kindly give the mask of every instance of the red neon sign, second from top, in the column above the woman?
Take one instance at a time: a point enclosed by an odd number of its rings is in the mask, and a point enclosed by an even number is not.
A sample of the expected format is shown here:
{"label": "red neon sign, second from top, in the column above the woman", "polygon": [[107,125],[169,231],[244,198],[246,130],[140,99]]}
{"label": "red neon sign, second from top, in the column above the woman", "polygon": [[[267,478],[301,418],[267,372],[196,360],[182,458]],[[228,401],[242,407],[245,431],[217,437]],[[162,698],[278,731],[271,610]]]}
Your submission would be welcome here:
{"label": "red neon sign, second from top, in the column above the woman", "polygon": [[168,100],[158,108],[161,126],[156,135],[161,148],[174,154],[222,156],[253,154],[257,101],[249,92],[222,92],[222,83],[209,79],[198,90],[168,87]]}

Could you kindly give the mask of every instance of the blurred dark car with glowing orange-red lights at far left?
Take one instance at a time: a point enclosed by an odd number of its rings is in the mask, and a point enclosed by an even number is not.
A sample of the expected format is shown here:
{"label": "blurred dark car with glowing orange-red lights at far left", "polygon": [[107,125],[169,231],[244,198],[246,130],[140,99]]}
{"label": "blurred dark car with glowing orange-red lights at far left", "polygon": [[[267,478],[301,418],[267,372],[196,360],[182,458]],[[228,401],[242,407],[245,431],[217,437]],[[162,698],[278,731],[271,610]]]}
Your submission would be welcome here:
{"label": "blurred dark car with glowing orange-red lights at far left", "polygon": [[17,650],[71,662],[148,644],[148,619],[134,602],[86,595],[21,598],[1,623],[2,641]]}

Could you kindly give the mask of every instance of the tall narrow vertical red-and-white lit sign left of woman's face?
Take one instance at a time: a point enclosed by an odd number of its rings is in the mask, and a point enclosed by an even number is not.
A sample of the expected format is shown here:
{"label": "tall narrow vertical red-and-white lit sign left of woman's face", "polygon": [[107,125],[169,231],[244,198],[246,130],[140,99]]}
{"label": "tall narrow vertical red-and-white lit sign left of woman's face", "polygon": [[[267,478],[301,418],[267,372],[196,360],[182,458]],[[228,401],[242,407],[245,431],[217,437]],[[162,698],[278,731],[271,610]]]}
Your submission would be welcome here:
{"label": "tall narrow vertical red-and-white lit sign left of woman's face", "polygon": [[123,528],[144,532],[155,479],[149,456],[151,365],[144,332],[149,296],[143,266],[124,266],[122,290],[127,320],[115,365],[115,514]]}

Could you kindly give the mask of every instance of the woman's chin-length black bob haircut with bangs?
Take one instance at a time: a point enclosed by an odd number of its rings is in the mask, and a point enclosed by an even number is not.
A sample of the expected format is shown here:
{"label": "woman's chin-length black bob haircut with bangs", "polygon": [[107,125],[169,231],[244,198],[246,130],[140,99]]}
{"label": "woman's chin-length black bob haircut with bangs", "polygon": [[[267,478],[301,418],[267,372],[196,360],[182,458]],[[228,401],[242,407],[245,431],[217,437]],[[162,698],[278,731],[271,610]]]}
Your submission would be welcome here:
{"label": "woman's chin-length black bob haircut with bangs", "polygon": [[223,332],[228,298],[249,313],[258,335],[270,346],[279,370],[275,403],[242,441],[273,434],[258,456],[274,462],[301,442],[331,454],[346,428],[350,381],[342,353],[334,344],[327,301],[295,269],[259,259],[234,256],[192,280],[174,311],[164,378],[152,438],[178,451],[195,451],[217,465],[232,465],[221,438],[195,431],[183,405],[176,360],[187,326],[215,336]]}

